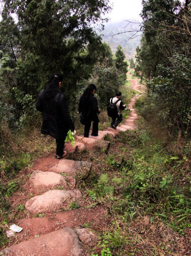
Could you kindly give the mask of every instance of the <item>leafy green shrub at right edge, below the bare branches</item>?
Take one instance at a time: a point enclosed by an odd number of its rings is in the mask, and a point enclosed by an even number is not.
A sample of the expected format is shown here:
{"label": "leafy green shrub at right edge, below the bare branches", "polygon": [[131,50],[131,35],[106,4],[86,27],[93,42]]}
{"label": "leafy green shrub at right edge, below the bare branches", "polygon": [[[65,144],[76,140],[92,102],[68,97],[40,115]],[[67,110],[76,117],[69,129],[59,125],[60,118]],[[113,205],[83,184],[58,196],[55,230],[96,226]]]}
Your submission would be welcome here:
{"label": "leafy green shrub at right edge, below the bare branches", "polygon": [[[184,55],[169,58],[169,67],[159,66],[162,75],[147,82],[147,109],[171,134],[175,130],[191,133],[191,60]],[[146,114],[144,114],[146,116]]]}

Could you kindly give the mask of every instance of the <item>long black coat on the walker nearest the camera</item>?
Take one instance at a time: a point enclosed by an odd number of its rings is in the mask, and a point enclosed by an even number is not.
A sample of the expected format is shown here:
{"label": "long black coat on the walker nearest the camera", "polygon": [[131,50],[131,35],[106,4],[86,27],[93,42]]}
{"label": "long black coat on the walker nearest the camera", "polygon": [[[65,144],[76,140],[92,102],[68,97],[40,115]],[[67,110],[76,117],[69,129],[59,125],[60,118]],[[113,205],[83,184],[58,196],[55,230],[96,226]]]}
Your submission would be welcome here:
{"label": "long black coat on the walker nearest the camera", "polygon": [[42,89],[37,99],[36,108],[42,112],[42,134],[62,139],[69,129],[72,131],[75,129],[62,92],[54,92],[53,96],[48,98],[45,89]]}

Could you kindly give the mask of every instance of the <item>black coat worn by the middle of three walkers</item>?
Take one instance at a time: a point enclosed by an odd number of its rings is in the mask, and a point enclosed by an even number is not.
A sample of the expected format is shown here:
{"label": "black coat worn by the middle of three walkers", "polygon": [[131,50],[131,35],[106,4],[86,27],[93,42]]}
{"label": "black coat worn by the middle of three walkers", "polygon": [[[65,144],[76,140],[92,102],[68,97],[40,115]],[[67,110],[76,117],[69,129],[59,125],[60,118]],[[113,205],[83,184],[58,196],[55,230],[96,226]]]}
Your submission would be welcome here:
{"label": "black coat worn by the middle of three walkers", "polygon": [[87,101],[84,102],[83,98],[80,97],[78,112],[86,116],[86,119],[96,121],[98,120],[97,114],[99,114],[98,103],[94,94],[90,93]]}

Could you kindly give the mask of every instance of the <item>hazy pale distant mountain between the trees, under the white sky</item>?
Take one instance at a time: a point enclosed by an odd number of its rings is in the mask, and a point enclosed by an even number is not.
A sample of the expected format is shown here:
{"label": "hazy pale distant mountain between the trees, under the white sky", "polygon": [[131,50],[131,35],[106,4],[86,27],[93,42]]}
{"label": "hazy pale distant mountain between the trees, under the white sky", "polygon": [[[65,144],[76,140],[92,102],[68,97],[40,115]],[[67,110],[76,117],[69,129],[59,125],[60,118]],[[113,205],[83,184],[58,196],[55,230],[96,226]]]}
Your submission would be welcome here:
{"label": "hazy pale distant mountain between the trees, under the white sky", "polygon": [[[128,21],[107,23],[102,31],[103,41],[106,42],[115,54],[117,46],[121,45],[126,59],[134,58],[136,47],[140,45],[141,34],[136,33],[139,26]],[[125,32],[129,31],[129,32]],[[115,35],[119,33],[119,35]]]}

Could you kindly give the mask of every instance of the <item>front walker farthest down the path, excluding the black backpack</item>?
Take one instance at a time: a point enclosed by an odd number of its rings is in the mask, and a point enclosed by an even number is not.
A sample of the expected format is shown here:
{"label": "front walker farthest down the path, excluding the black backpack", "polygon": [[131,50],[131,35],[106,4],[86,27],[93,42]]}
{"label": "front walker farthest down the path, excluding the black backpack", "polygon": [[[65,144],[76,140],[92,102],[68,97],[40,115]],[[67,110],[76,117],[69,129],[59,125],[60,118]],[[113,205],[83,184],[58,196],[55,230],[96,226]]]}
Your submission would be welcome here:
{"label": "front walker farthest down the path, excluding the black backpack", "polygon": [[[112,117],[112,122],[111,122],[111,127],[113,129],[117,129],[116,127],[123,120],[122,111],[126,108],[126,105],[123,104],[123,102],[121,100],[121,97],[122,97],[122,93],[117,91],[116,92],[116,96],[114,98],[111,98],[110,101],[109,101],[109,104],[111,104],[112,102],[113,103],[117,102],[116,103],[116,106],[117,106],[117,116]],[[118,100],[118,99],[120,99],[120,100]]]}

